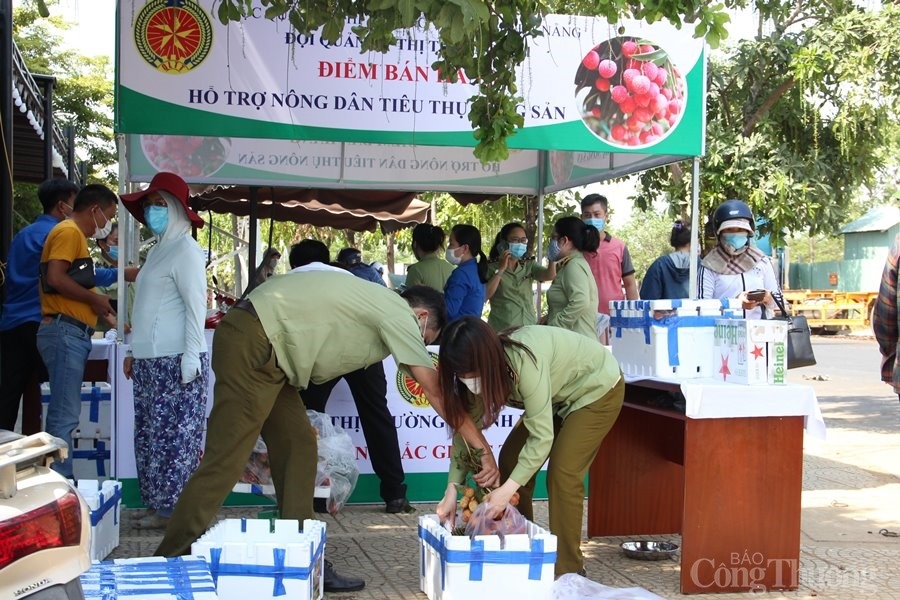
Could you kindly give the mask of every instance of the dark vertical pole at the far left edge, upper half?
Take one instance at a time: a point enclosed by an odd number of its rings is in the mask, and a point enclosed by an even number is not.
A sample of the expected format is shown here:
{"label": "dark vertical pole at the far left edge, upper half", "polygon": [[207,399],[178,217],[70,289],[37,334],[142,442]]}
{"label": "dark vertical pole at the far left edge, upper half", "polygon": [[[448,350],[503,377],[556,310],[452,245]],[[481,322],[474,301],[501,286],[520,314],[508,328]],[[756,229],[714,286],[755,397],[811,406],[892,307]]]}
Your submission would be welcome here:
{"label": "dark vertical pole at the far left edge, upper half", "polygon": [[6,264],[12,243],[13,101],[12,0],[0,0],[0,263]]}

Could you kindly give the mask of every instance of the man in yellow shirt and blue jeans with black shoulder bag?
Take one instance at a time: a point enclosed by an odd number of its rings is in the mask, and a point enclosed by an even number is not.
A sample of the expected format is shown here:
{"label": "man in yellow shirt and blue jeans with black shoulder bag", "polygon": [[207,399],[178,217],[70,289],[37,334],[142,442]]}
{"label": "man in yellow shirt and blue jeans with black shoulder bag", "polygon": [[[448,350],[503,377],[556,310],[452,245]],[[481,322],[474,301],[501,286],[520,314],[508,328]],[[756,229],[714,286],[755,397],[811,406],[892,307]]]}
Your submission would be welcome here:
{"label": "man in yellow shirt and blue jeans with black shoulder bag", "polygon": [[[81,413],[81,380],[91,352],[91,336],[101,317],[111,326],[116,315],[109,296],[98,294],[94,263],[87,238],[105,238],[112,228],[118,197],[103,185],[88,185],[75,196],[72,218],[50,230],[40,265],[41,324],[37,347],[50,375],[47,433],[66,441]],[[134,281],[136,268],[126,269]],[[70,453],[71,455],[71,453]],[[57,461],[53,468],[72,478],[72,459]]]}

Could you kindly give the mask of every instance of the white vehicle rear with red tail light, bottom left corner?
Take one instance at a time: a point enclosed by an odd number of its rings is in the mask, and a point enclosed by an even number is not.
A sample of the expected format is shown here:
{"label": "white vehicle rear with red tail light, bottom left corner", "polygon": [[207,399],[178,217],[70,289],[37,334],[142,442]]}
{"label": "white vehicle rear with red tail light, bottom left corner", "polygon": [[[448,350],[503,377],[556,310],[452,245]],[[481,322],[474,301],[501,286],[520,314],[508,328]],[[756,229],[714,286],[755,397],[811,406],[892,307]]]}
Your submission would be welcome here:
{"label": "white vehicle rear with red tail light, bottom left corner", "polygon": [[66,443],[0,430],[0,598],[83,600],[91,522],[81,495],[50,469]]}

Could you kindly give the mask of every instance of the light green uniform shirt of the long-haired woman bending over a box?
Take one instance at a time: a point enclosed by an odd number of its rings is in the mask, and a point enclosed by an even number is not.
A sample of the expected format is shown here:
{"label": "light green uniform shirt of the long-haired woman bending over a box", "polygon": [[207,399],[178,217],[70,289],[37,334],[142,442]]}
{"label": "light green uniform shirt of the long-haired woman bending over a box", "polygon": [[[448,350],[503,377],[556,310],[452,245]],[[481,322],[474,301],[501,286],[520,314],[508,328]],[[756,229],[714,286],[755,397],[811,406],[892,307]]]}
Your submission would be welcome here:
{"label": "light green uniform shirt of the long-haired woman bending over a box", "polygon": [[[510,478],[524,484],[550,455],[554,416],[565,419],[579,408],[596,402],[618,383],[621,372],[615,357],[597,341],[596,335],[589,339],[557,327],[531,325],[514,331],[510,337],[534,355],[532,360],[522,348],[504,348],[515,374],[507,405],[524,409],[523,425],[528,429],[528,440]],[[476,404],[481,404],[480,397],[476,398]],[[481,410],[481,406],[473,407],[476,424],[481,422]],[[454,435],[450,456],[464,451],[462,439]],[[465,468],[451,460],[448,480],[459,483],[465,475]]]}

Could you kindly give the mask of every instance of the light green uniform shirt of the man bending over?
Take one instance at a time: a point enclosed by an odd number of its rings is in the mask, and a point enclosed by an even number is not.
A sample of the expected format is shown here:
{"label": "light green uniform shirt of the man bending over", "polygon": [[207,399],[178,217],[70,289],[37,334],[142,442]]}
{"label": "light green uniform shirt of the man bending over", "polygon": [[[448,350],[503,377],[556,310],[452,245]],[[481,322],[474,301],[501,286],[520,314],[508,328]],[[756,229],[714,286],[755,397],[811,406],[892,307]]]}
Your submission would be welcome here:
{"label": "light green uniform shirt of the man bending over", "polygon": [[433,367],[412,309],[396,292],[348,273],[276,275],[247,296],[288,383],[305,389],[381,362]]}

